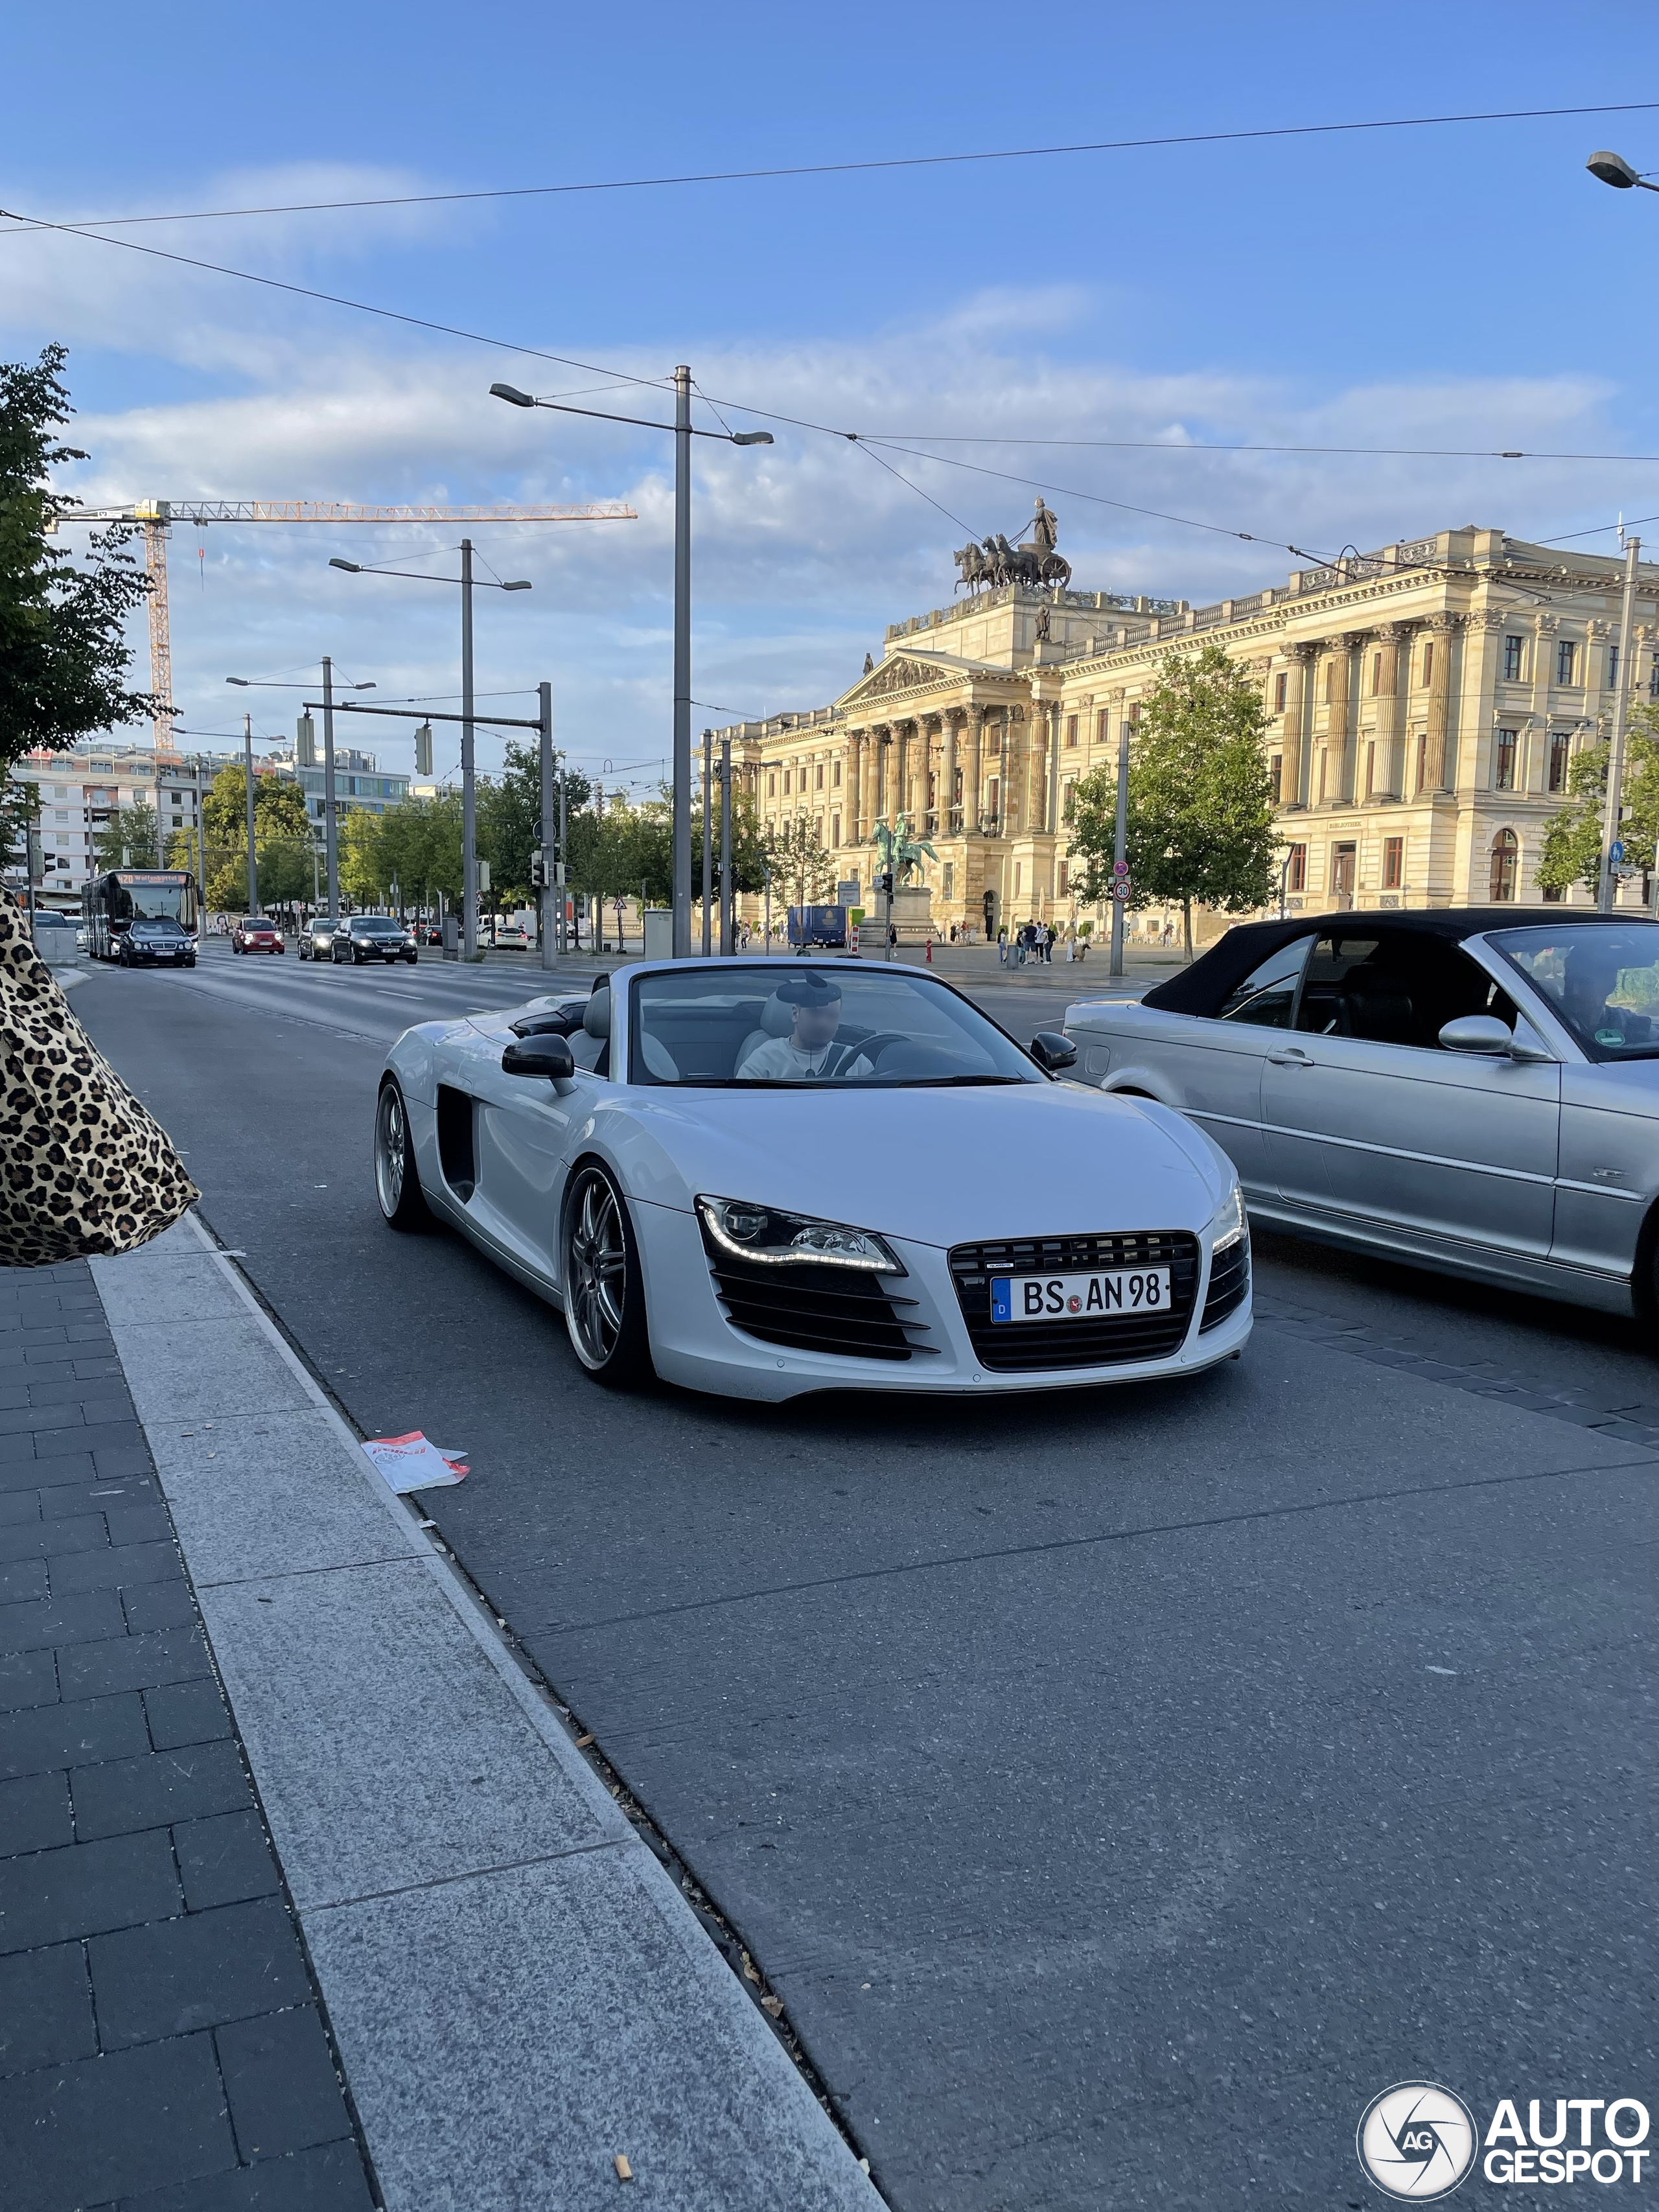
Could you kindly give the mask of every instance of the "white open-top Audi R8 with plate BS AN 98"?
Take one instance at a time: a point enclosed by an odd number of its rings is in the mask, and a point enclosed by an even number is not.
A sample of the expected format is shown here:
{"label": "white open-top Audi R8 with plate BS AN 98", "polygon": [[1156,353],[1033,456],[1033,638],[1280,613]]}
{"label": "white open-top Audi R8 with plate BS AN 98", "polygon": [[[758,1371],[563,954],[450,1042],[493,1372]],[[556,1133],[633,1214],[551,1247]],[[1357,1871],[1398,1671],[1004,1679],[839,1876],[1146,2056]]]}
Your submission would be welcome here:
{"label": "white open-top Audi R8 with plate BS AN 98", "polygon": [[602,1383],[730,1398],[1179,1376],[1250,1336],[1228,1155],[916,969],[639,962],[422,1022],[374,1183],[564,1310]]}

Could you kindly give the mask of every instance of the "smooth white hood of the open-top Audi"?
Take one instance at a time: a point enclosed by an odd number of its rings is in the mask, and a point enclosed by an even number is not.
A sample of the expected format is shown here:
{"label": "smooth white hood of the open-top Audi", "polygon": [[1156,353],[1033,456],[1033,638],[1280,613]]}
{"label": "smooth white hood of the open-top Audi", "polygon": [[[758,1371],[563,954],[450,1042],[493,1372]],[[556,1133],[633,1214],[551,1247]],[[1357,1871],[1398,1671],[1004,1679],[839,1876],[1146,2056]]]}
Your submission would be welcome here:
{"label": "smooth white hood of the open-top Audi", "polygon": [[635,1197],[754,1199],[931,1245],[1201,1230],[1232,1181],[1190,1121],[1071,1084],[622,1097],[633,1139],[606,1135]]}

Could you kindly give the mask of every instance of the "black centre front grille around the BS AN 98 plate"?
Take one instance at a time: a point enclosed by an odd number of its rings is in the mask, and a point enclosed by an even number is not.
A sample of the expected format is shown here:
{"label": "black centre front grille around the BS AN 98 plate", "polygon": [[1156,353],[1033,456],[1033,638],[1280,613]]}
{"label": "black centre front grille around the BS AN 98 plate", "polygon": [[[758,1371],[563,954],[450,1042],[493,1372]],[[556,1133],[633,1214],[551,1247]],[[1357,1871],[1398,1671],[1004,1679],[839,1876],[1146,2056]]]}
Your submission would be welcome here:
{"label": "black centre front grille around the BS AN 98 plate", "polygon": [[[991,1321],[991,1279],[1000,1274],[1097,1274],[1115,1267],[1168,1267],[1170,1303],[1159,1312],[1102,1321]],[[1040,1367],[1121,1367],[1161,1360],[1181,1347],[1199,1292],[1199,1239],[1190,1230],[1133,1230],[1121,1237],[1013,1237],[1006,1243],[953,1245],[951,1281],[973,1356],[998,1374]]]}

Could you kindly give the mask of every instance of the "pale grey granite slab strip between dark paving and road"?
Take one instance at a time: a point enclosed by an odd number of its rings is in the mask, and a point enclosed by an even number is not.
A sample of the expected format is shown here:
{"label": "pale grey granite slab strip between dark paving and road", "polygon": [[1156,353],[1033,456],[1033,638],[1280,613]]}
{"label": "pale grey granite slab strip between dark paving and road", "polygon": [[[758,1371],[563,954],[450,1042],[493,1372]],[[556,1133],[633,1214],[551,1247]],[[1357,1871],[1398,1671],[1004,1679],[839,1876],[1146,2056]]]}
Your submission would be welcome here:
{"label": "pale grey granite slab strip between dark paving and road", "polygon": [[639,2208],[874,2212],[772,2022],[232,1261],[186,1219],[93,1276],[389,2212],[586,2212],[624,2168]]}

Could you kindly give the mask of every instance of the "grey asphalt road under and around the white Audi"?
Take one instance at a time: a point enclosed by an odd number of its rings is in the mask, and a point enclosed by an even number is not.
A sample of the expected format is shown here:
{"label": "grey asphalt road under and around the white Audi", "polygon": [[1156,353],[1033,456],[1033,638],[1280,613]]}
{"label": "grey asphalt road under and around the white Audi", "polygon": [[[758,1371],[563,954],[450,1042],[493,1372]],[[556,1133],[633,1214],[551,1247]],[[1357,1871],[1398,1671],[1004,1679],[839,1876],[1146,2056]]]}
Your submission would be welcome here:
{"label": "grey asphalt road under and around the white Audi", "polygon": [[1380,2205],[1391,2081],[1655,2101],[1650,1332],[1272,1241],[1183,1387],[617,1398],[369,1188],[383,1044],[540,984],[217,956],[75,1011],[363,1429],[467,1447],[429,1511],[889,2201]]}

